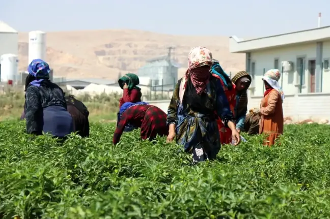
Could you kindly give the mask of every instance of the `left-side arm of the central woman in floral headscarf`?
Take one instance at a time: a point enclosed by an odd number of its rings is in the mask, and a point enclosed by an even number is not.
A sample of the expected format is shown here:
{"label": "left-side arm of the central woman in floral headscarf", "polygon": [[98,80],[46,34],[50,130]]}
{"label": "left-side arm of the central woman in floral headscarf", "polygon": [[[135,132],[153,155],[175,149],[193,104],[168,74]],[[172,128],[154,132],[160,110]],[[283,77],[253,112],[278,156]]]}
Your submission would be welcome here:
{"label": "left-side arm of the central woman in floral headscarf", "polygon": [[175,85],[173,96],[168,108],[167,124],[169,126],[169,132],[175,132],[175,127],[178,124],[178,105],[180,103],[179,98],[179,83]]}

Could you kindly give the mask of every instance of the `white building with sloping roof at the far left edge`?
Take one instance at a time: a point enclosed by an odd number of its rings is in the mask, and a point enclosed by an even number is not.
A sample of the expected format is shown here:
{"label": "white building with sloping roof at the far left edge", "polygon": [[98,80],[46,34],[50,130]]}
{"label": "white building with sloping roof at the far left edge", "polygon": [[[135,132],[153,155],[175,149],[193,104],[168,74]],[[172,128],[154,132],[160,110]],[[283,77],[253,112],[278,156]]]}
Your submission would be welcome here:
{"label": "white building with sloping roof at the far left edge", "polygon": [[18,55],[18,32],[0,21],[0,56],[3,54]]}

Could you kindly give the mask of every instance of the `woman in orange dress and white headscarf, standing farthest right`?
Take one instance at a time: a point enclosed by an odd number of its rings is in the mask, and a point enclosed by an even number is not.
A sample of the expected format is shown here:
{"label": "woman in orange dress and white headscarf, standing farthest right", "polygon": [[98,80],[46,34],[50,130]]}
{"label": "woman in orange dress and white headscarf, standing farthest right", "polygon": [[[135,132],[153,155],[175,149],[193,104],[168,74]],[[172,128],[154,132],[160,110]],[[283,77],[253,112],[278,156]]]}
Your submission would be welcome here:
{"label": "woman in orange dress and white headscarf, standing farthest right", "polygon": [[282,103],[284,93],[279,84],[281,73],[278,69],[267,71],[262,78],[265,84],[264,98],[261,100],[260,109],[255,113],[261,115],[259,134],[266,134],[264,145],[274,145],[275,140],[283,134],[284,118]]}

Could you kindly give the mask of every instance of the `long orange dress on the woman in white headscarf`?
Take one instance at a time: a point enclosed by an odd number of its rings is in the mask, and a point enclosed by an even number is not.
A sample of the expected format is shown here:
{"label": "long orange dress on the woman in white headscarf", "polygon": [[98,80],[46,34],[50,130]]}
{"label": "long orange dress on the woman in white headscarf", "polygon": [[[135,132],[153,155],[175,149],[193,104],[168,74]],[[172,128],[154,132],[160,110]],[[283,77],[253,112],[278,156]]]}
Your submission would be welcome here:
{"label": "long orange dress on the woman in white headscarf", "polygon": [[282,99],[276,89],[271,90],[261,100],[260,114],[259,134],[266,134],[267,139],[264,145],[271,146],[275,139],[283,134],[284,127]]}

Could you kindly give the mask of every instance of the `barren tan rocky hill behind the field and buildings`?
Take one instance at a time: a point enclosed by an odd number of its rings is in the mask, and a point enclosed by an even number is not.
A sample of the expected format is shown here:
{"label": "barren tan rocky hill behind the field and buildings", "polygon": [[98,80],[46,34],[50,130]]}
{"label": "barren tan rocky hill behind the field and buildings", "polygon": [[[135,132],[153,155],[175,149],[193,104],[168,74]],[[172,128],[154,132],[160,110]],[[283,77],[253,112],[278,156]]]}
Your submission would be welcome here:
{"label": "barren tan rocky hill behind the field and buildings", "polygon": [[[244,69],[244,54],[229,52],[228,37],[175,36],[141,30],[89,30],[47,33],[47,61],[55,76],[116,79],[121,72],[136,72],[146,60],[167,55],[175,46],[175,58],[187,66],[189,50],[209,48],[228,72]],[[19,70],[28,65],[28,33],[19,33]]]}

